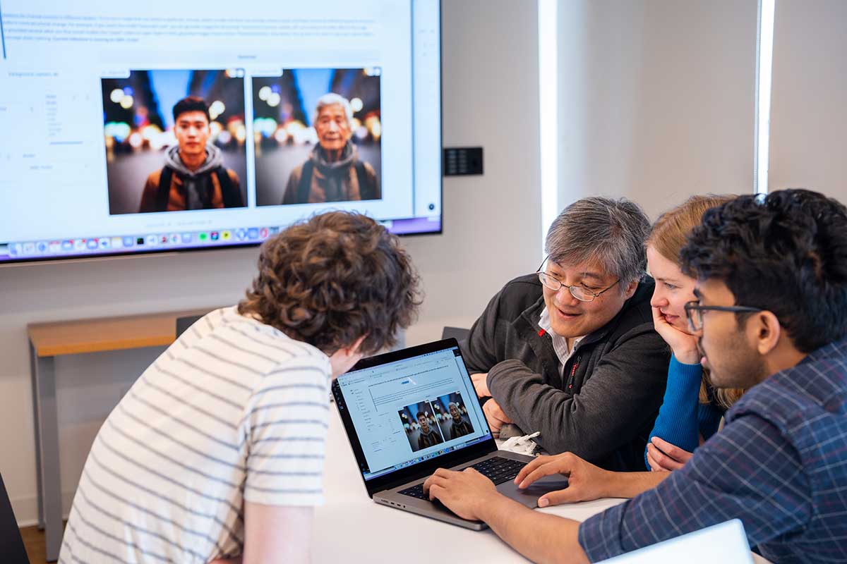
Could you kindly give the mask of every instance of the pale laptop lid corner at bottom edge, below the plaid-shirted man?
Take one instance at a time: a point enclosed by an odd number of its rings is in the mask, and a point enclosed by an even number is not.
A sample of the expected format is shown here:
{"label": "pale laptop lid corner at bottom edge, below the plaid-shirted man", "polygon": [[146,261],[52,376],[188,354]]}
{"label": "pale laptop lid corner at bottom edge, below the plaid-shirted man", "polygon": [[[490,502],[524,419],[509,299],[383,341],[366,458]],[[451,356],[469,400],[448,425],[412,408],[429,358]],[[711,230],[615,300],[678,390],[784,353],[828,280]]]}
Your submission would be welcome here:
{"label": "pale laptop lid corner at bottom edge, below the plaid-shirted man", "polygon": [[739,519],[733,519],[603,561],[604,564],[656,562],[752,564],[753,557],[744,525]]}

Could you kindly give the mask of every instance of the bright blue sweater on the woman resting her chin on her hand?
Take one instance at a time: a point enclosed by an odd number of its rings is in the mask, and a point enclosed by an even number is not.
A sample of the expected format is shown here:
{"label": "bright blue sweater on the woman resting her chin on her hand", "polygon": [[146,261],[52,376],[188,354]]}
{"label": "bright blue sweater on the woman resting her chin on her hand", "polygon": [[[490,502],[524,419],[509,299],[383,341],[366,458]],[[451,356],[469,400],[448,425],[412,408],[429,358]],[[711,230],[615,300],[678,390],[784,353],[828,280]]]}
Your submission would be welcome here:
{"label": "bright blue sweater on the woman resting her chin on her hand", "polygon": [[[685,451],[694,452],[700,446],[700,435],[706,440],[717,432],[725,409],[714,402],[700,403],[702,378],[703,367],[700,364],[682,364],[676,357],[671,357],[671,364],[667,367],[665,399],[650,431],[650,439],[658,436]],[[646,449],[644,462],[649,470]]]}

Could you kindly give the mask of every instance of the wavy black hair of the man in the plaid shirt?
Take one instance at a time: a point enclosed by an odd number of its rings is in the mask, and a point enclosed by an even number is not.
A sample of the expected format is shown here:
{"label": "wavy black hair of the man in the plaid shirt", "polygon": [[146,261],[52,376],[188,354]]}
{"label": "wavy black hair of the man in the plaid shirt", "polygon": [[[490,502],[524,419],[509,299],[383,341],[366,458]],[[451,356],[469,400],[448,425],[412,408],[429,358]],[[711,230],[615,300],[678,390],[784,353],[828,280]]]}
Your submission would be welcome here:
{"label": "wavy black hair of the man in the plaid shirt", "polygon": [[706,211],[680,260],[688,276],[724,282],[736,304],[771,311],[802,353],[847,336],[847,208],[837,200],[805,189],[739,196]]}

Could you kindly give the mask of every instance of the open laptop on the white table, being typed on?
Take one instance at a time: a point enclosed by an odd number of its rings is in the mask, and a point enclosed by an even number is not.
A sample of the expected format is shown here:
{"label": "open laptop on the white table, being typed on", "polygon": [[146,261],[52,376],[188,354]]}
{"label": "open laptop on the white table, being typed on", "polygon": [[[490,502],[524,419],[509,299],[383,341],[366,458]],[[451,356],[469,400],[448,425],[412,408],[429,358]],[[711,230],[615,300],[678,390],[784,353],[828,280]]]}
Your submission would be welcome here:
{"label": "open laptop on the white table, being typed on", "polygon": [[526,507],[567,487],[564,477],[514,485],[532,457],[499,451],[456,339],[363,359],[333,382],[332,393],[365,488],[377,503],[481,530],[424,496],[436,468],[477,468]]}

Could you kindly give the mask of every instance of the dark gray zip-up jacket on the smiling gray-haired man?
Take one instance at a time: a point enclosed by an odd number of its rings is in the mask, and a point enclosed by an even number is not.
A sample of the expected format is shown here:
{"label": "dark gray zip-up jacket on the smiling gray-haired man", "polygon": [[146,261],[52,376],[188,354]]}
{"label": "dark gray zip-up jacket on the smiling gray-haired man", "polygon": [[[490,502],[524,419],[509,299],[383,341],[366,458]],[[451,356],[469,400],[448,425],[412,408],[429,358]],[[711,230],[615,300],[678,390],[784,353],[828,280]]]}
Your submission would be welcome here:
{"label": "dark gray zip-up jacket on the smiling gray-haired man", "polygon": [[462,352],[488,372],[503,411],[547,452],[573,452],[601,468],[645,470],[644,449],[662,405],[670,350],[653,329],[650,278],[605,326],[586,335],[560,375],[537,275],[508,282],[471,327]]}

